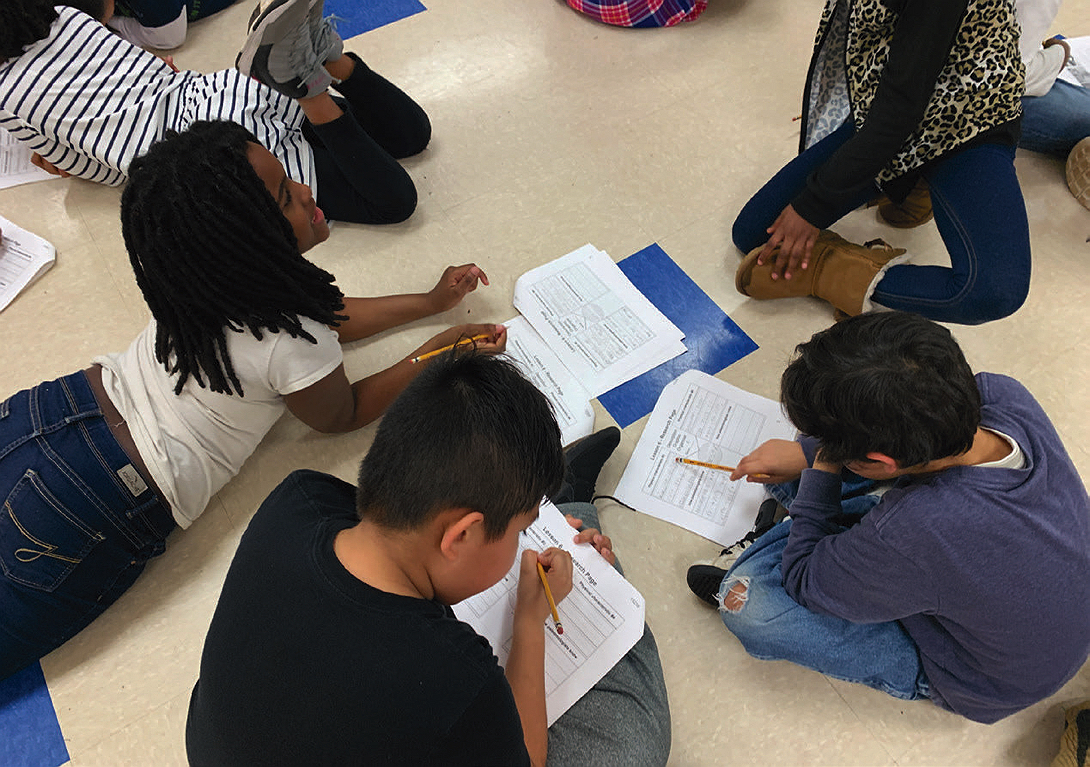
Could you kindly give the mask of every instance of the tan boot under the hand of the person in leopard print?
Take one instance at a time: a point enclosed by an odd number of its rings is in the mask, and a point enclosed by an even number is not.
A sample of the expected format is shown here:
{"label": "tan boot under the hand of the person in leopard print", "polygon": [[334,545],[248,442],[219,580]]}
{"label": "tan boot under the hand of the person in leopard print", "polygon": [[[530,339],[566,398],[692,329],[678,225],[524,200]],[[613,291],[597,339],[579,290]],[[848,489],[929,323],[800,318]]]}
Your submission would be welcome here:
{"label": "tan boot under the hand of the person in leopard print", "polygon": [[870,311],[871,293],[885,270],[908,260],[905,248],[881,244],[883,247],[856,245],[836,232],[822,230],[810,265],[796,269],[789,280],[772,279],[772,259],[764,266],[758,265],[756,257],[763,247],[756,247],[738,267],[735,287],[742,295],[762,300],[815,295],[847,315],[862,314]]}

